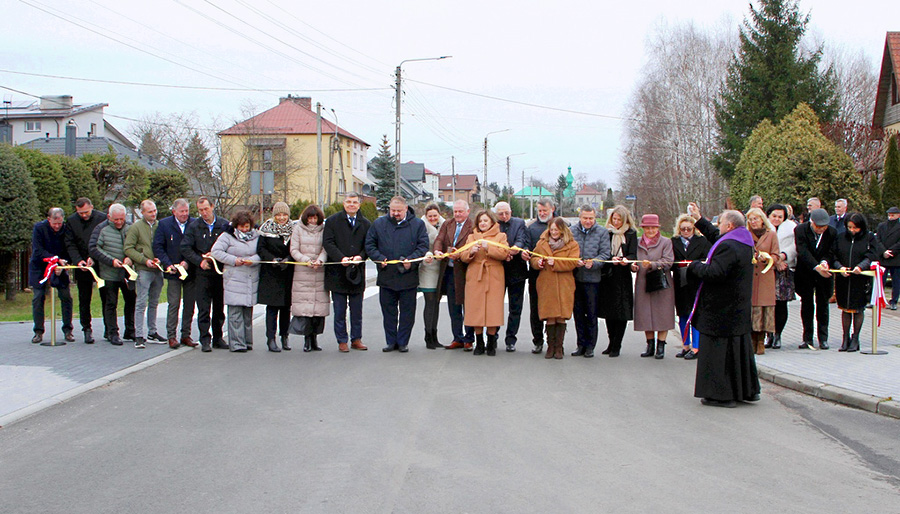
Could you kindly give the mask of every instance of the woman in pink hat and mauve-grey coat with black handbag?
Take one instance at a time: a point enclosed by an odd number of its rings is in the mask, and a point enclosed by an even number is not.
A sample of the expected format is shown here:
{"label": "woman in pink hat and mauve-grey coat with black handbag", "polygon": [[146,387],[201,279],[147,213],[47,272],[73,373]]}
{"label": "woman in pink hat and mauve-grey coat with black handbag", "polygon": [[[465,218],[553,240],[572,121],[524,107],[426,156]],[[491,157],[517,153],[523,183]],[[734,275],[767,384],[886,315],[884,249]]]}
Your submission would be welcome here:
{"label": "woman in pink hat and mauve-grey coat with black handbag", "polygon": [[672,287],[672,240],[659,233],[659,216],[644,214],[644,233],[638,240],[637,260],[631,271],[634,281],[634,329],[644,332],[647,350],[641,357],[666,355],[666,335],[675,328],[675,290]]}

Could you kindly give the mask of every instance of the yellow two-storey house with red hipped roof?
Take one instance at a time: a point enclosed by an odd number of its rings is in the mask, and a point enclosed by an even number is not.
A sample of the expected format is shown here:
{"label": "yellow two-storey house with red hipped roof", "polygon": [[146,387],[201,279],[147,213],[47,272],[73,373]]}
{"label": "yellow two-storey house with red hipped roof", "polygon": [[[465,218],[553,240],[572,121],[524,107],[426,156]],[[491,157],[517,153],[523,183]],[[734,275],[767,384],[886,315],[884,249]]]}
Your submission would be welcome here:
{"label": "yellow two-storey house with red hipped roof", "polygon": [[[369,145],[324,117],[322,177],[318,175],[317,115],[309,97],[288,95],[278,105],[219,132],[222,182],[239,203],[259,202],[250,191],[251,171],[273,171],[274,189],[264,201],[341,201],[350,190],[362,193]],[[354,176],[357,178],[354,179]],[[360,189],[356,189],[360,188]]]}

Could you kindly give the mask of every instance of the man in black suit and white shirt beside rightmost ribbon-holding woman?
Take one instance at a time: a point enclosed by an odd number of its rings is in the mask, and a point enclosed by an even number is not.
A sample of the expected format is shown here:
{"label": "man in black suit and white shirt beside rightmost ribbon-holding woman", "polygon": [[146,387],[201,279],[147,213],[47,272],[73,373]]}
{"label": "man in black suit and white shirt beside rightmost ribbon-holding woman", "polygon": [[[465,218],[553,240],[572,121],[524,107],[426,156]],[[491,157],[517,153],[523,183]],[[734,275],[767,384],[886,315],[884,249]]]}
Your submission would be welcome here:
{"label": "man in black suit and white shirt beside rightmost ribbon-holding woman", "polygon": [[831,261],[831,245],[837,230],[828,224],[825,209],[813,209],[810,220],[794,229],[797,246],[797,269],[794,282],[800,295],[800,318],[803,321],[803,343],[800,348],[813,347],[813,316],[818,322],[819,348],[828,349],[828,299],[834,290],[834,280],[827,272]]}

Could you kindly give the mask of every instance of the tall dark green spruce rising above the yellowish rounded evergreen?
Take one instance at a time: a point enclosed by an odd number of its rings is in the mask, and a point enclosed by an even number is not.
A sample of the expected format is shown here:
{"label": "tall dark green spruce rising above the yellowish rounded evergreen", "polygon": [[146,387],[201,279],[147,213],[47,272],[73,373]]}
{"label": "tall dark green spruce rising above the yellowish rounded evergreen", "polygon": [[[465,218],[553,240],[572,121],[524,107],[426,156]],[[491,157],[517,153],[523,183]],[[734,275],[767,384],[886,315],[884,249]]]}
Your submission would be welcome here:
{"label": "tall dark green spruce rising above the yellowish rounded evergreen", "polygon": [[796,0],[760,0],[744,20],[740,49],[728,66],[716,102],[720,149],[712,164],[726,179],[734,175],[746,138],[764,119],[777,123],[801,102],[823,122],[837,114],[834,74],[819,71],[822,48],[804,55],[800,41],[809,15]]}

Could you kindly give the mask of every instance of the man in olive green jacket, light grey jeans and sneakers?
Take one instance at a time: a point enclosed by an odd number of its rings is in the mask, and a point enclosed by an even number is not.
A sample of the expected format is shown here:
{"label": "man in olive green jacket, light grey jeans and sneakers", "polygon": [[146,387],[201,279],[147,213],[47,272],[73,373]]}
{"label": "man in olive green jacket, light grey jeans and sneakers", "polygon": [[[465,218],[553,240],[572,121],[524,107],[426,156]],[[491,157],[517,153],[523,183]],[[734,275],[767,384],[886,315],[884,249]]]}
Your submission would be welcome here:
{"label": "man in olive green jacket, light grey jeans and sneakers", "polygon": [[[153,344],[166,342],[166,338],[156,331],[156,307],[162,292],[163,278],[159,259],[153,255],[153,236],[159,226],[156,221],[156,203],[153,200],[141,202],[141,218],[131,225],[125,236],[125,256],[134,261],[134,269],[138,274],[134,306],[135,348],[144,348],[147,341]],[[146,331],[144,312],[147,314]]]}

